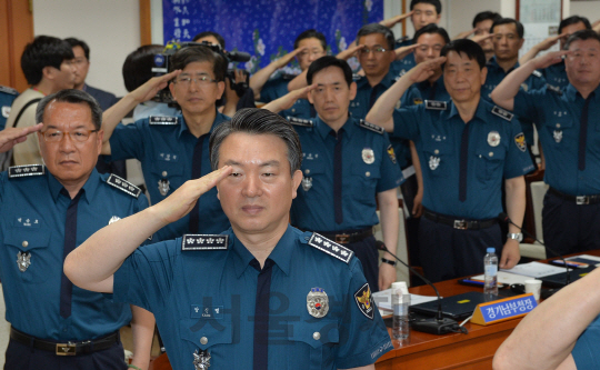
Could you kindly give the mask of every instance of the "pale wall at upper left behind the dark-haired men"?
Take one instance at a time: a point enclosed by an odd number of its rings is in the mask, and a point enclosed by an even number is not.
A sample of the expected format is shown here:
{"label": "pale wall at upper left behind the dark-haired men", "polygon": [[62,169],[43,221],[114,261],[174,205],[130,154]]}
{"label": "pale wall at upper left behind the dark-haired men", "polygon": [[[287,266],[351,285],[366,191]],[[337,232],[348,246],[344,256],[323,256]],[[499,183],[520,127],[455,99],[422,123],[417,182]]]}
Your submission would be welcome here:
{"label": "pale wall at upper left behind the dark-haired men", "polygon": [[33,31],[86,41],[91,61],[87,82],[127,93],[121,68],[140,46],[139,0],[33,0]]}

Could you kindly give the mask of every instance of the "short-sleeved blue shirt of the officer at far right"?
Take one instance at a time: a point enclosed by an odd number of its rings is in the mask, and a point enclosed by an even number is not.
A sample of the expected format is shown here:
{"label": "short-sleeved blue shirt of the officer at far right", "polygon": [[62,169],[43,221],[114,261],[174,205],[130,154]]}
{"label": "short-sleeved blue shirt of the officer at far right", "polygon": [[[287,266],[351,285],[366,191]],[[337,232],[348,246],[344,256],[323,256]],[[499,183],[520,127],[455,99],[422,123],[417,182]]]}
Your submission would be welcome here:
{"label": "short-sleeved blue shirt of the officer at far right", "polygon": [[572,84],[560,90],[519,91],[514,112],[536,122],[546,156],[544,181],[571,196],[600,194],[600,87],[588,111],[586,169],[578,169],[579,130],[584,99]]}

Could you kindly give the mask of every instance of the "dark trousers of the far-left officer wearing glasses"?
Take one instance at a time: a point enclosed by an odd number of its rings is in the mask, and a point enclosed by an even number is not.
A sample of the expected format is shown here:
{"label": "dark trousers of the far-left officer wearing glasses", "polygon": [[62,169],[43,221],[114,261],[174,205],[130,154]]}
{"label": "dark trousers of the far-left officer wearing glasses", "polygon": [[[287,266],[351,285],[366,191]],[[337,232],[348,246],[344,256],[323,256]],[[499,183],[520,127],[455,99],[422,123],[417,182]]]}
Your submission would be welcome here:
{"label": "dark trousers of the far-left officer wearing glasses", "polygon": [[119,341],[103,351],[79,354],[57,356],[9,341],[4,370],[127,370],[123,344]]}

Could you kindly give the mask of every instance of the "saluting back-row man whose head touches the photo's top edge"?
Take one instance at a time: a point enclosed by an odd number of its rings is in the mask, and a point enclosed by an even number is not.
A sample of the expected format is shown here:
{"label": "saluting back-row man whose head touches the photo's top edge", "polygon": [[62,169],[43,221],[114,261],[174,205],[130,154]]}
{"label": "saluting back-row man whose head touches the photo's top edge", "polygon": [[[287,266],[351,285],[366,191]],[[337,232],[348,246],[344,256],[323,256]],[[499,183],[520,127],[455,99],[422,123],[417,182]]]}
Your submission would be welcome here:
{"label": "saluting back-row man whose head touches the photo's top edge", "polygon": [[[388,28],[392,28],[397,22],[402,21],[410,14],[410,21],[412,27],[414,27],[414,32],[419,31],[421,28],[431,23],[439,23],[441,19],[441,2],[440,0],[411,0],[410,1],[410,12],[408,14],[401,14],[381,21],[380,24]],[[396,42],[396,49],[401,47],[409,47],[414,43],[414,39],[409,39],[404,37],[399,39]],[[417,63],[414,61],[413,54],[408,54],[401,60],[397,60],[391,64],[391,70],[396,76],[402,76]]]}

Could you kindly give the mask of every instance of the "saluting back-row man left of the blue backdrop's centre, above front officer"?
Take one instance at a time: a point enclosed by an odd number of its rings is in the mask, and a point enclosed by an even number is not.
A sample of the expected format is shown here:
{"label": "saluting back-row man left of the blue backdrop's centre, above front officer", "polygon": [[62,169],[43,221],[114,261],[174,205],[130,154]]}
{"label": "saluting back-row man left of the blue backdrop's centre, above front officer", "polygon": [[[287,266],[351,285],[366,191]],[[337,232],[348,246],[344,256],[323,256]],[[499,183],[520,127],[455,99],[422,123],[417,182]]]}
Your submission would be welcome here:
{"label": "saluting back-row man left of the blue backdrop's centre, above front officer", "polygon": [[[323,57],[327,53],[327,40],[323,33],[310,29],[300,33],[293,41],[293,51],[273,60],[269,66],[256,72],[250,78],[250,87],[254,90],[254,99],[262,102],[271,102],[288,93],[290,81],[306,79],[306,71],[310,63]],[[289,73],[274,73],[286,67],[296,57],[302,73],[298,77]],[[316,116],[314,109],[310,102],[302,97],[298,99],[293,107],[280,113],[282,117],[311,118]]]}

